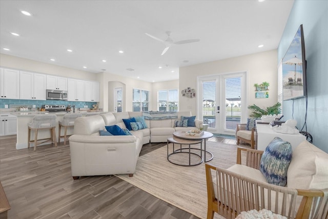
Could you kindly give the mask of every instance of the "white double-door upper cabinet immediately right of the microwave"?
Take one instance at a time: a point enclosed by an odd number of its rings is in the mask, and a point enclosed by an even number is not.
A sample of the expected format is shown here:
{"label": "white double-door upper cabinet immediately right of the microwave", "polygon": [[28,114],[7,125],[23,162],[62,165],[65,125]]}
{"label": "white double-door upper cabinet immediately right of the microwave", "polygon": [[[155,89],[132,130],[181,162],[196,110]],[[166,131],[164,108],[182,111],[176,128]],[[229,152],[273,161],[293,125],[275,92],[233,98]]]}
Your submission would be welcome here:
{"label": "white double-door upper cabinet immediately right of the microwave", "polygon": [[85,81],[68,78],[68,101],[85,101]]}

